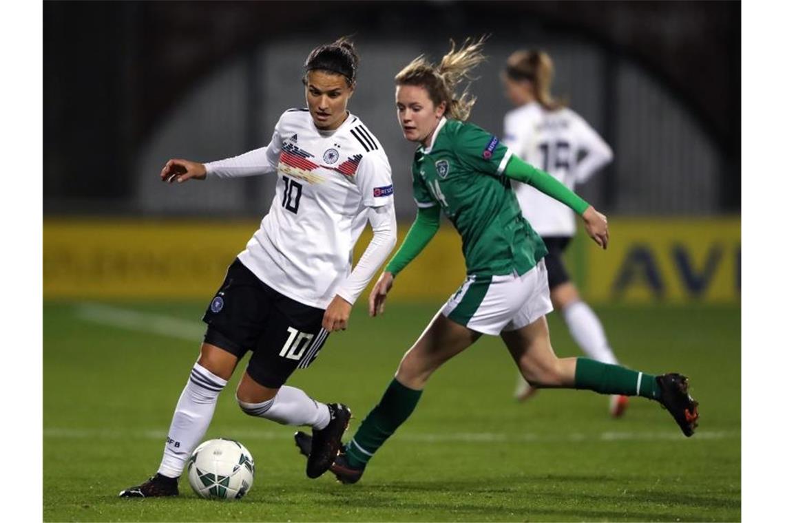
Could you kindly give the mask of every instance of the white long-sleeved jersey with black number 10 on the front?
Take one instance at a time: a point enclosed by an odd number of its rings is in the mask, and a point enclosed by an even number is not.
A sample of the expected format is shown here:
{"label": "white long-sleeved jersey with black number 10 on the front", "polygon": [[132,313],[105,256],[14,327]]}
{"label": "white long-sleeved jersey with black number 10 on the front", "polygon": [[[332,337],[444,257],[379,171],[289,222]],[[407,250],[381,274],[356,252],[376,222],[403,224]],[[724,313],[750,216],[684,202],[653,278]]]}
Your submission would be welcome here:
{"label": "white long-sleeved jersey with black number 10 on the front", "polygon": [[[320,132],[307,109],[290,109],[267,147],[206,167],[217,177],[277,170],[270,210],[238,258],[300,303],[323,309],[337,293],[353,303],[395,245],[390,165],[382,145],[353,114],[334,132]],[[369,209],[379,207],[392,218],[392,244],[377,249],[370,274],[352,285],[352,248]],[[366,254],[371,250],[369,245]]]}

